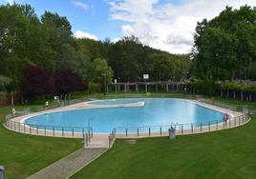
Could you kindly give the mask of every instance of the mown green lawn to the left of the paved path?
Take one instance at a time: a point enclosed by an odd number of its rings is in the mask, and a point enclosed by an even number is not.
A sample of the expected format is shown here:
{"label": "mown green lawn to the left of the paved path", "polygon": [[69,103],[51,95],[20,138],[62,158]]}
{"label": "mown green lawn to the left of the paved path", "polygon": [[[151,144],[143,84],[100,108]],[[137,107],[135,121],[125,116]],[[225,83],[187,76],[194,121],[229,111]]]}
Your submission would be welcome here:
{"label": "mown green lawn to the left of the paved path", "polygon": [[5,129],[3,115],[10,111],[11,107],[0,108],[0,165],[5,166],[6,178],[26,178],[82,147],[79,139],[39,137]]}

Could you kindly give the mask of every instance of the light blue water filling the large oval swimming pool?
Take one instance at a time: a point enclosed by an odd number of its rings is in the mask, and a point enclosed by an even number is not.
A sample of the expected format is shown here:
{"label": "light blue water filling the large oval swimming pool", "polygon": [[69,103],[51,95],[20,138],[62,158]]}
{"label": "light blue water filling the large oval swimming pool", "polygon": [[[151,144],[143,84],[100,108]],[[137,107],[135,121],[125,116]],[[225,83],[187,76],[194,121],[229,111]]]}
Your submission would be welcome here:
{"label": "light blue water filling the large oval swimming pool", "polygon": [[222,120],[223,118],[222,112],[181,99],[121,99],[91,103],[114,105],[137,102],[144,102],[145,104],[143,107],[76,109],[53,112],[34,116],[26,120],[26,124],[79,128],[90,126],[94,132],[110,132],[116,127],[160,126],[172,123],[206,124],[209,121]]}

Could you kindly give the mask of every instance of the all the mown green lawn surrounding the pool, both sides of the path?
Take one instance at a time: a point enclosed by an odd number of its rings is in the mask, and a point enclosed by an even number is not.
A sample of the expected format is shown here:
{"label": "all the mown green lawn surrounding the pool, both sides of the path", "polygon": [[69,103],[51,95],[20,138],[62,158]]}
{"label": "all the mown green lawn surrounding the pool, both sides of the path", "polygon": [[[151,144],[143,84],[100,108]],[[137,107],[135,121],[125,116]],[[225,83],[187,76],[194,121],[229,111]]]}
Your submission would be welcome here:
{"label": "all the mown green lawn surrounding the pool, both sides of the path", "polygon": [[[105,98],[102,94],[77,97]],[[120,97],[147,96],[113,92],[106,96]],[[151,97],[184,96],[152,93]],[[222,101],[256,109],[255,103]],[[21,108],[25,107],[15,107]],[[11,107],[0,108],[0,165],[5,166],[7,178],[26,178],[82,146],[79,139],[25,135],[5,129],[3,115],[10,111]],[[130,145],[117,140],[113,149],[76,173],[74,178],[256,178],[256,115],[253,118],[242,128],[178,136],[174,141],[165,137],[147,138]]]}

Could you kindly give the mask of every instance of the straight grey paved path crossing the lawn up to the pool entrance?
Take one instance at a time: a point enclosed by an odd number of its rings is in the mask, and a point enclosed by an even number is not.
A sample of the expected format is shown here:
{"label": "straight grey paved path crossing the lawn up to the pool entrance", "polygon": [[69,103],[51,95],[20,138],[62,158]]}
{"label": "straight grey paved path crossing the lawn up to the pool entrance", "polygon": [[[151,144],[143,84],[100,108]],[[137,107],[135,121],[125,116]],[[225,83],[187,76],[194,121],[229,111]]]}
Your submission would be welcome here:
{"label": "straight grey paved path crossing the lawn up to the pool entrance", "polygon": [[84,168],[107,149],[82,148],[56,161],[45,169],[32,174],[28,179],[64,179],[69,178],[79,169]]}

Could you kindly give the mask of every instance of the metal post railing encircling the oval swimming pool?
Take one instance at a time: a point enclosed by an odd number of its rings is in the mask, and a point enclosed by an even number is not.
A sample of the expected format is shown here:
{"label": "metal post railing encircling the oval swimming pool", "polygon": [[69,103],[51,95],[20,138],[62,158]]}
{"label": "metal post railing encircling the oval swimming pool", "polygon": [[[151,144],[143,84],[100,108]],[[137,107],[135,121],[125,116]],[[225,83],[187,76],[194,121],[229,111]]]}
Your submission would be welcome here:
{"label": "metal post railing encircling the oval swimming pool", "polygon": [[[161,94],[162,97],[163,94]],[[134,96],[133,96],[134,97]],[[139,97],[139,96],[138,96]],[[157,97],[157,96],[156,96]],[[83,99],[82,101],[88,101],[88,99]],[[81,100],[76,100],[70,102],[70,104],[79,103]],[[187,124],[170,124],[170,125],[155,125],[155,126],[139,126],[139,127],[117,127],[114,128],[108,135],[109,146],[111,147],[115,141],[115,138],[137,138],[137,137],[153,137],[153,136],[167,136],[168,129],[176,129],[177,135],[183,134],[193,134],[193,133],[203,133],[207,131],[214,131],[220,129],[231,129],[241,125],[244,125],[249,121],[249,111],[246,107],[235,108],[234,106],[227,105],[221,102],[212,102],[209,99],[200,99],[201,103],[208,105],[214,105],[224,109],[229,109],[233,111],[244,110],[241,115],[229,117],[226,121],[224,120],[213,120],[205,123],[187,123]],[[59,104],[54,104],[49,108],[57,108]],[[53,136],[53,137],[75,137],[83,138],[85,143],[90,143],[93,138],[93,128],[91,127],[68,127],[68,126],[43,126],[43,125],[29,125],[25,122],[16,122],[11,120],[13,118],[30,114],[31,111],[44,111],[45,108],[26,108],[17,110],[14,114],[8,114],[5,116],[5,127],[20,133],[41,135],[41,136]],[[105,134],[106,135],[106,134]]]}

